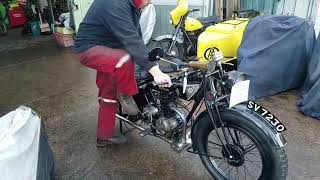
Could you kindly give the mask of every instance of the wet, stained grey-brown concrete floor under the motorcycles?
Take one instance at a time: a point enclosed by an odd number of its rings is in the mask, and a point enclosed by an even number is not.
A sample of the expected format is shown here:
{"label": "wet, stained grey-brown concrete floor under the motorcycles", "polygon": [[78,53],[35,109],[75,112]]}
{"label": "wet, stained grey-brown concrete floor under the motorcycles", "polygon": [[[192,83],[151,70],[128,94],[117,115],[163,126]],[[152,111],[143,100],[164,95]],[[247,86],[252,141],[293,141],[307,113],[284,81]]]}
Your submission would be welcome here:
{"label": "wet, stained grey-brown concrete floor under the motorcycles", "polygon": [[[9,37],[0,37],[0,109],[26,105],[41,115],[55,156],[55,179],[210,179],[198,156],[177,154],[137,131],[129,133],[126,146],[97,148],[95,72],[50,36],[31,38],[13,50],[4,43]],[[298,91],[290,91],[260,103],[288,128],[288,179],[320,180],[320,121],[299,113],[297,99]]]}

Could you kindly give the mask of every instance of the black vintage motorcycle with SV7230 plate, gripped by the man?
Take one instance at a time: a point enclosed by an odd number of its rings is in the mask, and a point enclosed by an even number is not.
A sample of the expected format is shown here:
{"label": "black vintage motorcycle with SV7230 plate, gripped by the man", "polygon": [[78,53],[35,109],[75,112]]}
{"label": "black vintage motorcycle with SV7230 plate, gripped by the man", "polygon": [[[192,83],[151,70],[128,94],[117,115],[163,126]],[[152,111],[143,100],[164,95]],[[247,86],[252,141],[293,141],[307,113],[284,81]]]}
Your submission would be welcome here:
{"label": "black vintage motorcycle with SV7230 plate, gripped by the man", "polygon": [[173,86],[161,88],[146,72],[137,72],[134,99],[141,112],[128,116],[119,108],[117,118],[142,137],[158,137],[176,152],[198,154],[215,179],[285,179],[284,125],[253,101],[229,107],[232,88],[245,76],[225,72],[222,53],[211,52],[210,61],[183,62],[164,59],[161,48],[151,50],[150,60],[172,65]]}

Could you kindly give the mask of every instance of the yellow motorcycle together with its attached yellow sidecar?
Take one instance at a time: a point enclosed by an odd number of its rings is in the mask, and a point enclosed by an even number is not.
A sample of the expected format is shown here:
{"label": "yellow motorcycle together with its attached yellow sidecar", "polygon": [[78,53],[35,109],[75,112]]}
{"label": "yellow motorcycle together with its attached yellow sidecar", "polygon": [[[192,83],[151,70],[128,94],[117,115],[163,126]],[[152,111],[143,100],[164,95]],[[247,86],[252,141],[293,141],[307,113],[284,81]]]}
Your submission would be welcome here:
{"label": "yellow motorcycle together with its attached yellow sidecar", "polygon": [[170,24],[174,26],[172,34],[161,35],[154,39],[156,46],[162,47],[167,56],[180,59],[207,61],[212,47],[223,52],[224,62],[236,64],[237,50],[243,31],[250,18],[258,16],[254,10],[234,11],[233,18],[220,21],[218,17],[208,17],[210,23],[189,17],[199,9],[189,10],[186,0],[178,0],[177,6],[170,12]]}

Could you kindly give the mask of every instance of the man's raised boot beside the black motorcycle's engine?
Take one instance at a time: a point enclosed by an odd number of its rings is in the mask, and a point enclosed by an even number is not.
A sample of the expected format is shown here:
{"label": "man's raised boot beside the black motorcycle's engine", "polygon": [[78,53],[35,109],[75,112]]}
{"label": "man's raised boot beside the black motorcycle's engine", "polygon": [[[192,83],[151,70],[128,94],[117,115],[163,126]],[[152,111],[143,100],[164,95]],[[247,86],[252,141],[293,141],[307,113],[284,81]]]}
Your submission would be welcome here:
{"label": "man's raised boot beside the black motorcycle's engine", "polygon": [[118,100],[121,104],[122,109],[124,110],[124,113],[128,115],[137,115],[139,114],[139,108],[132,98],[132,96],[123,94],[118,92],[117,94]]}

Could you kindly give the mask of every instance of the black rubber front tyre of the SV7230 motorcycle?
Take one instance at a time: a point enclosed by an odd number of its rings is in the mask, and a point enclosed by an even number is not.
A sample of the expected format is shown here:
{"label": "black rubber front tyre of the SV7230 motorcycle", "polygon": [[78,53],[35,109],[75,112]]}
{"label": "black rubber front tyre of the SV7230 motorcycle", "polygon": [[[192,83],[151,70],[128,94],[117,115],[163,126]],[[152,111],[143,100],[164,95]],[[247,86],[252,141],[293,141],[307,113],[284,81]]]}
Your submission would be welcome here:
{"label": "black rubber front tyre of the SV7230 motorcycle", "polygon": [[[255,137],[255,141],[259,143],[259,146],[263,149],[263,156],[265,161],[263,162],[264,169],[259,179],[263,180],[284,180],[286,179],[288,172],[288,160],[284,148],[275,147],[268,136],[263,133],[253,123],[250,123],[250,119],[240,116],[234,113],[221,112],[221,118],[223,122],[226,123],[229,127],[237,127],[244,130],[246,133],[250,134],[251,137]],[[209,116],[204,116],[202,119],[199,119],[197,124],[196,132],[196,147],[200,154],[207,154],[207,139],[210,135],[210,132],[213,130],[213,124]],[[257,138],[259,137],[259,138]],[[253,141],[252,139],[250,139]],[[260,152],[261,153],[261,152]],[[205,155],[199,155],[202,163],[208,170],[208,172],[216,179],[225,180],[222,174],[220,174],[217,169],[214,168],[209,157]],[[262,156],[262,155],[261,155]],[[261,157],[263,158],[263,157]]]}

